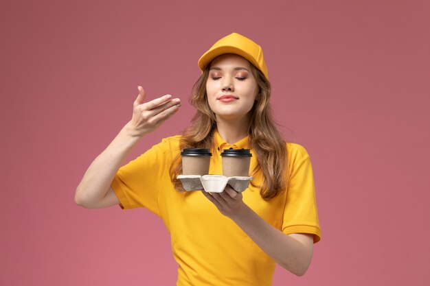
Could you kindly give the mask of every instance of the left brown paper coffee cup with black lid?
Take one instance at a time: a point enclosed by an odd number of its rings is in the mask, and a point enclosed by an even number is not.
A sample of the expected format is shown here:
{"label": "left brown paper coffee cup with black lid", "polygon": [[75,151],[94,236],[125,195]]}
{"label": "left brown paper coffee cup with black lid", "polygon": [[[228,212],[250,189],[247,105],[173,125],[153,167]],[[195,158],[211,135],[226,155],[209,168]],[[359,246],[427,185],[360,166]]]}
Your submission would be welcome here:
{"label": "left brown paper coffee cup with black lid", "polygon": [[207,175],[209,174],[210,158],[212,153],[205,148],[187,148],[182,150],[182,174],[183,175]]}

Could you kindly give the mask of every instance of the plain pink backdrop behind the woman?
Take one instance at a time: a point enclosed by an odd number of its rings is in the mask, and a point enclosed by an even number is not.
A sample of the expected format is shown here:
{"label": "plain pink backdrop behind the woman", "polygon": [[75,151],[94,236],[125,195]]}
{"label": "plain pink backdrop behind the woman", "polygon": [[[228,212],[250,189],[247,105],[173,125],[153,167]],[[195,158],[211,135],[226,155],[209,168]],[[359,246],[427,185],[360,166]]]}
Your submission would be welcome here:
{"label": "plain pink backdrop behind the woman", "polygon": [[264,48],[315,169],[322,240],[273,285],[428,285],[429,1],[117,2],[1,1],[0,285],[174,285],[160,219],[73,195],[137,85],[183,107],[130,159],[187,125],[196,62],[231,32]]}

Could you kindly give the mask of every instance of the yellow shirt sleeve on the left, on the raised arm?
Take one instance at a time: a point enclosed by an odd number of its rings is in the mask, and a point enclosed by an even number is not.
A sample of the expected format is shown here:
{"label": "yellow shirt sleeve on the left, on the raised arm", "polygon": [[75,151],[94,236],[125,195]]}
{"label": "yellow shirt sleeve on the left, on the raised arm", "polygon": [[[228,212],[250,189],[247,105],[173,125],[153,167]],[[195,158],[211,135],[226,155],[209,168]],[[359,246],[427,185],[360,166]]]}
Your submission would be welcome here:
{"label": "yellow shirt sleeve on the left, on the raised arm", "polygon": [[148,208],[159,216],[158,196],[168,176],[168,158],[164,141],[154,145],[147,152],[121,167],[113,178],[111,187],[121,208]]}

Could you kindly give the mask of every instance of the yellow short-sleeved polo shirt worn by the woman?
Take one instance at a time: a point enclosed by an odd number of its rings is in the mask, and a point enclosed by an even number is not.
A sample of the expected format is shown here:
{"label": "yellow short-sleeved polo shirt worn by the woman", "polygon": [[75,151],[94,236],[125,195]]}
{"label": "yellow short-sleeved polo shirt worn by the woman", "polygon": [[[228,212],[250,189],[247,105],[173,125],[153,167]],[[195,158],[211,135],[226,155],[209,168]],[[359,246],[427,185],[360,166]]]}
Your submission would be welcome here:
{"label": "yellow short-sleeved polo shirt worn by the woman", "polygon": [[[112,187],[122,208],[146,207],[168,228],[174,259],[179,264],[179,286],[271,285],[275,262],[201,191],[179,192],[172,186],[169,167],[179,154],[180,136],[163,139],[124,167]],[[214,135],[210,174],[222,174],[220,152],[229,147],[249,149],[246,137],[230,145]],[[288,191],[266,202],[257,187],[246,189],[243,201],[260,217],[284,233],[309,233],[319,241],[313,172],[304,147],[286,143],[289,161]],[[219,148],[219,150],[218,150]],[[252,152],[252,150],[251,150]],[[251,158],[253,169],[256,156]],[[251,174],[258,185],[262,174]]]}

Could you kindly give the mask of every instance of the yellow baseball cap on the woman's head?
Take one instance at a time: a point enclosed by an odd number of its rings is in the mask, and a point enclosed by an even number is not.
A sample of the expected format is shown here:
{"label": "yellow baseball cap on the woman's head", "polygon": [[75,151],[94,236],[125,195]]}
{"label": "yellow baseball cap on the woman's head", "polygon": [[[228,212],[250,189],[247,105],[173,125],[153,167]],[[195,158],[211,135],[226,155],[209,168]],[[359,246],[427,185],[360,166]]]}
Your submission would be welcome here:
{"label": "yellow baseball cap on the woman's head", "polygon": [[269,79],[262,48],[252,40],[249,40],[249,38],[238,33],[231,33],[221,38],[208,51],[203,53],[203,56],[199,59],[200,69],[204,71],[207,64],[214,60],[214,58],[225,53],[235,53],[246,58]]}

